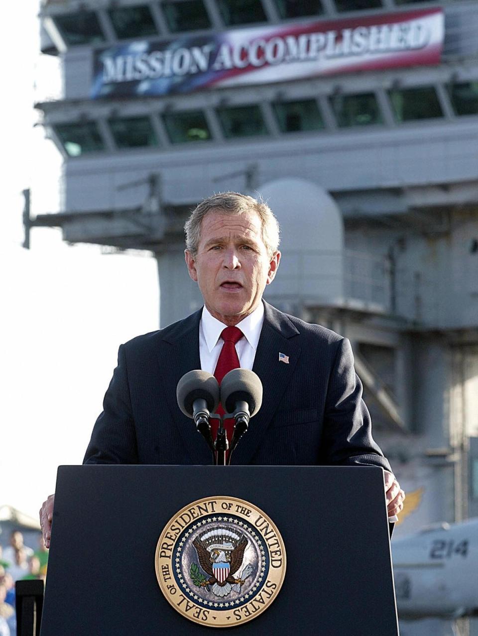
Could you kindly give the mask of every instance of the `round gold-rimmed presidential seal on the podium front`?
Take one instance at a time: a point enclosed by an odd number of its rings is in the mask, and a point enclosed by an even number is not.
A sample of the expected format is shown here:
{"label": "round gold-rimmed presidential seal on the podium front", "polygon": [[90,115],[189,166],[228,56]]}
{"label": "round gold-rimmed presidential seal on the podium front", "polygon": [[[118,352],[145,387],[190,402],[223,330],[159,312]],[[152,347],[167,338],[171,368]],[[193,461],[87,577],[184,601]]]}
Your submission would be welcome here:
{"label": "round gold-rimmed presidential seal on the podium front", "polygon": [[207,497],[165,525],[156,576],[174,609],[211,627],[241,625],[264,612],[281,589],[285,546],[257,506],[235,497]]}

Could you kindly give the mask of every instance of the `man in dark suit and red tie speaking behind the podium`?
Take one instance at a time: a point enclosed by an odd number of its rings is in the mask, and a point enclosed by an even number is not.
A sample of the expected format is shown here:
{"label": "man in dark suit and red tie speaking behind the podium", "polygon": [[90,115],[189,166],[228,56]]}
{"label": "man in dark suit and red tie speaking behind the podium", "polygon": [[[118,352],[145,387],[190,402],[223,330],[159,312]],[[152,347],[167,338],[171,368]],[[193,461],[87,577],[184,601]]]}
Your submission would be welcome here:
{"label": "man in dark suit and red tie speaking behind the podium", "polygon": [[[201,202],[186,223],[186,265],[204,307],[122,345],[85,464],[209,464],[210,452],[176,403],[192,369],[213,373],[235,329],[236,366],[262,380],[264,401],[234,464],[381,466],[389,516],[404,492],[371,434],[346,338],[262,301],[278,270],[278,224],[269,207],[236,193]],[[240,331],[239,331],[240,330]],[[40,511],[49,545],[53,495]]]}

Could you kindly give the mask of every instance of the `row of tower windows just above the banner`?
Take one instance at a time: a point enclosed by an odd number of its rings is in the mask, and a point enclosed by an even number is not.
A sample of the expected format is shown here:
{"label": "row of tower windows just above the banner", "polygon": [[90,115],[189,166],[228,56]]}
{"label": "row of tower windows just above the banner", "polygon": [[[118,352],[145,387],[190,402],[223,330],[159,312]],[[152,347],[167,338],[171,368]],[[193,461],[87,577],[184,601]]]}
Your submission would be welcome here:
{"label": "row of tower windows just above the banner", "polygon": [[[267,22],[262,0],[213,0],[225,27],[254,22]],[[272,0],[282,19],[309,17],[325,13],[321,0]],[[417,0],[395,0],[395,4],[411,4]],[[419,0],[423,1],[423,0]],[[426,1],[426,0],[425,0]],[[171,33],[213,28],[213,20],[204,0],[165,0],[153,3],[155,11]],[[337,11],[381,8],[382,0],[335,0]],[[161,32],[149,4],[109,8],[106,15],[118,39],[147,38]],[[106,41],[106,34],[96,11],[67,13],[53,17],[67,46],[96,44]],[[160,21],[160,20],[159,20]]]}

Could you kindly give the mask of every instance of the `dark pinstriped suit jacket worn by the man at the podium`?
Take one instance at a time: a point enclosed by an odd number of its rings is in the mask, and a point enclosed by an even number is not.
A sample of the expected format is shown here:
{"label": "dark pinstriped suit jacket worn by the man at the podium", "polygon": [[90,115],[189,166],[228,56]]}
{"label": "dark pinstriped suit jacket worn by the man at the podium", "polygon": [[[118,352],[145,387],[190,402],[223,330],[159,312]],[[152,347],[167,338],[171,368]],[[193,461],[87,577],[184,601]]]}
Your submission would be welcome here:
{"label": "dark pinstriped suit jacket worn by the man at the podium", "polygon": [[[253,371],[264,399],[233,464],[382,466],[346,338],[264,303]],[[176,385],[200,369],[201,310],[138,336],[118,352],[85,455],[86,464],[211,464],[211,452],[179,410]],[[279,362],[279,352],[289,363]]]}

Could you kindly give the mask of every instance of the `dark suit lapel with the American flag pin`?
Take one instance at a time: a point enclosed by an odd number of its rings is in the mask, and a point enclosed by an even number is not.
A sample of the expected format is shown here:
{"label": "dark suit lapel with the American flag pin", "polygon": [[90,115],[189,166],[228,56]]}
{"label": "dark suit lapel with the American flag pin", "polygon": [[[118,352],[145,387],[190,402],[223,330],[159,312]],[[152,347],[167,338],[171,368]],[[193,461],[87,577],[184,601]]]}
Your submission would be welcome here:
{"label": "dark suit lapel with the American flag pin", "polygon": [[[264,387],[262,406],[237,445],[232,455],[233,464],[249,464],[264,438],[299,359],[299,338],[295,338],[298,334],[285,314],[264,303],[264,324],[253,366]],[[288,356],[288,364],[279,362],[279,353]]]}

